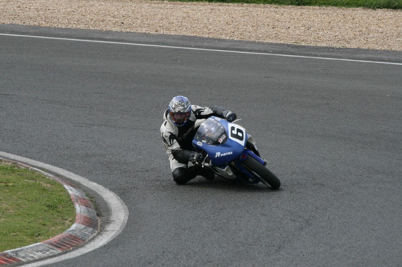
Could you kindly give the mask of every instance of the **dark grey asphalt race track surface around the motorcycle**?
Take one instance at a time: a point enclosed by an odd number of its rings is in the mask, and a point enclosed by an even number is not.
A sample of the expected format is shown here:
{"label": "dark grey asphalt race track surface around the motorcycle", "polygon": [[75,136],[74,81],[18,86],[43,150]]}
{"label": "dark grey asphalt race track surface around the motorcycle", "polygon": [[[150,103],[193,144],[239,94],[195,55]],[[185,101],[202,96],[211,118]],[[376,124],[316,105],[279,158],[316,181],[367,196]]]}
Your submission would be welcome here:
{"label": "dark grey asphalt race track surface around the motorcycle", "polygon": [[[402,52],[10,25],[0,34],[15,35],[0,35],[0,151],[85,177],[129,209],[120,235],[51,265],[402,264]],[[178,94],[235,111],[280,190],[175,185],[159,126]]]}

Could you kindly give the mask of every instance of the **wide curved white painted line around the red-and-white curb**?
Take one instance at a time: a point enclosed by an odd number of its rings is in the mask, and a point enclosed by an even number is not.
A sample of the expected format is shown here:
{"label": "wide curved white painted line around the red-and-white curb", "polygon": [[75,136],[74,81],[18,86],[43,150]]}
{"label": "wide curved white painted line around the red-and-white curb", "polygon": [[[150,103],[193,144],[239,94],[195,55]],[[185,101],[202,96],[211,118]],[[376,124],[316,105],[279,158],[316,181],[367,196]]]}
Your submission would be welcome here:
{"label": "wide curved white painted line around the red-and-white curb", "polygon": [[65,252],[61,255],[58,255],[58,256],[55,256],[52,258],[48,258],[48,259],[44,259],[44,260],[40,260],[40,261],[36,261],[33,263],[27,263],[27,264],[24,264],[24,266],[32,266],[32,267],[43,266],[46,264],[52,264],[55,262],[59,262],[62,260],[80,256],[84,253],[87,253],[89,251],[92,251],[96,248],[99,248],[99,247],[107,244],[112,239],[114,239],[116,236],[118,236],[121,233],[121,231],[124,229],[124,227],[127,223],[128,214],[129,214],[128,208],[127,208],[126,204],[115,193],[113,193],[109,189],[103,187],[102,185],[96,184],[86,178],[83,178],[79,175],[76,175],[72,172],[66,171],[64,169],[61,169],[61,168],[58,168],[58,167],[55,167],[55,166],[52,166],[52,165],[49,165],[46,163],[42,163],[39,161],[31,160],[28,158],[24,158],[21,156],[17,156],[17,155],[2,152],[2,151],[0,151],[0,156],[2,156],[4,158],[8,158],[10,160],[14,160],[14,161],[22,162],[22,163],[25,163],[28,165],[32,165],[37,168],[46,169],[52,173],[58,174],[60,176],[64,176],[68,179],[71,179],[73,181],[76,181],[76,182],[82,184],[85,187],[92,189],[97,194],[99,194],[99,196],[102,197],[106,203],[108,203],[110,213],[111,213],[110,219],[109,219],[108,223],[106,224],[105,228],[102,231],[100,231],[95,237],[90,239],[88,243],[85,243],[81,247],[78,247],[71,251]]}

